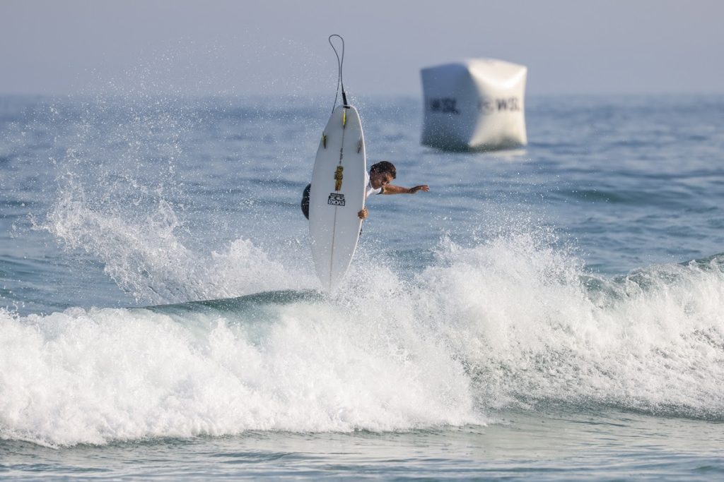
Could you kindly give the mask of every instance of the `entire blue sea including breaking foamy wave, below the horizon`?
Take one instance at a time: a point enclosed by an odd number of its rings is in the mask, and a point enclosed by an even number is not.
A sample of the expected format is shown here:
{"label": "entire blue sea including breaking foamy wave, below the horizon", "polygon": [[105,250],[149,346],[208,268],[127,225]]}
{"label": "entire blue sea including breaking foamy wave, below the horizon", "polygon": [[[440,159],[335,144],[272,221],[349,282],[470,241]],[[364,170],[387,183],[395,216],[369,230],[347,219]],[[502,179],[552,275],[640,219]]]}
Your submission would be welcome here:
{"label": "entire blue sea including breaking foamy wave, below the horizon", "polygon": [[471,153],[353,100],[430,191],[330,294],[332,98],[0,97],[0,478],[724,478],[724,97],[531,97]]}

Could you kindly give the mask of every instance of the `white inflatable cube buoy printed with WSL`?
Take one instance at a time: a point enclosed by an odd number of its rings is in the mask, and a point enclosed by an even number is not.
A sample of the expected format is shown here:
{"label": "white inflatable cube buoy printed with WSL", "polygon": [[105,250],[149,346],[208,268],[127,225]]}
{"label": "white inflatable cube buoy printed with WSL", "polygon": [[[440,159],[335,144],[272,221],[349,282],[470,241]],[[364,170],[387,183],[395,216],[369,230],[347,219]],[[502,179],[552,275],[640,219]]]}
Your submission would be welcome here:
{"label": "white inflatable cube buoy printed with WSL", "polygon": [[471,59],[421,69],[422,143],[445,150],[526,145],[526,66]]}

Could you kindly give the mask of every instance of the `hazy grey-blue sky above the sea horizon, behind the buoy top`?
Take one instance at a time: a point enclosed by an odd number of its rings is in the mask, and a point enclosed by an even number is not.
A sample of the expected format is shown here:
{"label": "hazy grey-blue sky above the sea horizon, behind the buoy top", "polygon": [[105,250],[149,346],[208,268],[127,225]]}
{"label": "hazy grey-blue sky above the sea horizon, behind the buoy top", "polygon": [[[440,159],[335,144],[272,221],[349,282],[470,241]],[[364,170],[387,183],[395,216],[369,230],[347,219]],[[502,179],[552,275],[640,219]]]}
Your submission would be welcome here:
{"label": "hazy grey-blue sky above the sea horizon, behind the buoy top", "polygon": [[528,92],[724,92],[724,1],[0,0],[0,92],[419,95],[419,69],[529,67]]}

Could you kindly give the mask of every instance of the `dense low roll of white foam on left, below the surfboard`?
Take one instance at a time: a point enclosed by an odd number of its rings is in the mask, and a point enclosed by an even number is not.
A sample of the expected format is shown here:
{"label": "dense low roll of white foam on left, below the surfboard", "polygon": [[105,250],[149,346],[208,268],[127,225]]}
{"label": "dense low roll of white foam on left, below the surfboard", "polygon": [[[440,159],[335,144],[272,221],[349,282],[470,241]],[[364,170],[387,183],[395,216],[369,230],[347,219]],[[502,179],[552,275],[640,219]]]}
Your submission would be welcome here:
{"label": "dense low roll of white foam on left, below the surfboard", "polygon": [[[0,315],[0,434],[43,444],[480,422],[466,376],[412,327],[291,304],[266,326],[145,309]],[[413,340],[410,340],[412,338]]]}

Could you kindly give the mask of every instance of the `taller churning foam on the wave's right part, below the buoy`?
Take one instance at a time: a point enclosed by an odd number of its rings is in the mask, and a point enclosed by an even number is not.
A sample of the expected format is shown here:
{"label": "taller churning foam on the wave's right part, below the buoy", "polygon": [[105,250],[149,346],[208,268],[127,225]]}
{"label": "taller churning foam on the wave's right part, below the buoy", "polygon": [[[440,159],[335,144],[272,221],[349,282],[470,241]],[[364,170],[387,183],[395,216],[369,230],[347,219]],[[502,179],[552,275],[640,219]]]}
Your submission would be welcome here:
{"label": "taller churning foam on the wave's right part, below the buoy", "polygon": [[520,235],[450,245],[420,280],[419,303],[486,406],[555,400],[724,416],[717,257],[607,280]]}

